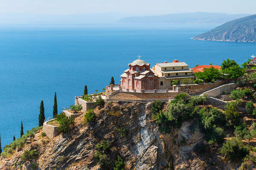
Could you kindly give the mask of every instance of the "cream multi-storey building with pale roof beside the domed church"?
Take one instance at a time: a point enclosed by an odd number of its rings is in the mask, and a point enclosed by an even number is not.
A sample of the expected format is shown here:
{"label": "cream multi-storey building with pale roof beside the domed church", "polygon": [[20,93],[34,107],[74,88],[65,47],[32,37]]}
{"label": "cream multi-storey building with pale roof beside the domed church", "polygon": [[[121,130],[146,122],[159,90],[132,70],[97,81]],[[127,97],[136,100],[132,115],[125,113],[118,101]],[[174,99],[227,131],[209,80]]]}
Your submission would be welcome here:
{"label": "cream multi-storey building with pale roof beside the domed church", "polygon": [[179,60],[173,60],[173,62],[157,63],[153,67],[153,71],[159,77],[159,89],[172,88],[172,82],[178,80],[179,84],[184,84],[184,80],[188,80],[193,83],[194,77],[192,76],[189,65],[186,62],[179,62]]}

